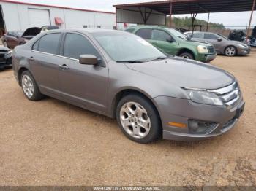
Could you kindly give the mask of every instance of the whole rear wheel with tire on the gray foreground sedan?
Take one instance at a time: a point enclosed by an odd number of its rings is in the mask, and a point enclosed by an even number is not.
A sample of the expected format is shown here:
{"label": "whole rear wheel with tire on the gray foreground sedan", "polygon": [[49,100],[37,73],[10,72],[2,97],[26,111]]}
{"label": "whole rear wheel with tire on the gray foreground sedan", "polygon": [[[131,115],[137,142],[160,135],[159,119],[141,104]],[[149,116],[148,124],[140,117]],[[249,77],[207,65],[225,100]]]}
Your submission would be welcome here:
{"label": "whole rear wheel with tire on the gray foreground sedan", "polygon": [[40,93],[37,83],[29,71],[23,71],[20,80],[21,87],[26,98],[31,101],[39,101],[44,98],[44,95]]}

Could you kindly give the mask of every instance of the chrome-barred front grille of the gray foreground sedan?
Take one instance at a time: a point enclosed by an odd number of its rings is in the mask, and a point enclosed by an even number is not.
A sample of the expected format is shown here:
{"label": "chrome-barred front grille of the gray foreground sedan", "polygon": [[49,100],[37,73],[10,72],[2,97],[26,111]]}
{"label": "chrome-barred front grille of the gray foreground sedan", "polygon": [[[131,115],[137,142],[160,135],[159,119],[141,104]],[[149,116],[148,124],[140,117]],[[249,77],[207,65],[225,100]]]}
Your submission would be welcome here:
{"label": "chrome-barred front grille of the gray foreground sedan", "polygon": [[233,82],[233,84],[226,87],[209,91],[217,94],[226,106],[235,106],[241,99],[241,90],[238,82]]}

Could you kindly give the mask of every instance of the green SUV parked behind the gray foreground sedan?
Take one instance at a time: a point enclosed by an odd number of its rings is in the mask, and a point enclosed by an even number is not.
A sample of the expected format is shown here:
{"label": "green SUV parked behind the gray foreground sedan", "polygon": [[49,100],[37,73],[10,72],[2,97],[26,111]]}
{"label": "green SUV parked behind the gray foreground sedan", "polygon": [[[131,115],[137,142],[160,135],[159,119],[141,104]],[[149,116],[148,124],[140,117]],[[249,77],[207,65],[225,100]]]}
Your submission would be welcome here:
{"label": "green SUV parked behind the gray foreground sedan", "polygon": [[205,63],[216,58],[215,49],[211,44],[192,41],[173,28],[132,26],[127,28],[126,31],[148,40],[148,42],[169,55],[178,55],[182,58]]}

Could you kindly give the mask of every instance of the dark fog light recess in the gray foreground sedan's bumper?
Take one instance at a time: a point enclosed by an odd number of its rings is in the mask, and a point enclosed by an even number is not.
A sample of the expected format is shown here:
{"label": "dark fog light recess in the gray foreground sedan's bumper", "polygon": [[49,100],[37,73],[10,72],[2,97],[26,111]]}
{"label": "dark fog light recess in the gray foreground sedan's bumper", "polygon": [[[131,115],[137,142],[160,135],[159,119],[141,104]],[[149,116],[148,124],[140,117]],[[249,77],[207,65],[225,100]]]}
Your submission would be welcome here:
{"label": "dark fog light recess in the gray foreground sedan's bumper", "polygon": [[216,127],[215,122],[189,120],[189,133],[208,133]]}

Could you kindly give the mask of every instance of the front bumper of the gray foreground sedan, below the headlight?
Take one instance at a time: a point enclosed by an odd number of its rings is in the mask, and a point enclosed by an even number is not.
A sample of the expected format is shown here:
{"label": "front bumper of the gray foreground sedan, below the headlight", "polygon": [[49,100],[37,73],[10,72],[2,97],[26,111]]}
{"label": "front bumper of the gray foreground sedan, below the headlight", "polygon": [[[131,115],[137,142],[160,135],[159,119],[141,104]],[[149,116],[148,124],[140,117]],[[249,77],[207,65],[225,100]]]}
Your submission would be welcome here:
{"label": "front bumper of the gray foreground sedan, below the headlight", "polygon": [[[219,136],[236,125],[244,111],[244,101],[241,97],[232,108],[226,106],[210,106],[196,104],[187,99],[159,96],[154,98],[162,120],[163,139],[176,141],[196,141]],[[238,113],[239,112],[239,113]],[[214,122],[216,125],[207,133],[191,133],[189,120]],[[169,122],[186,124],[185,128],[168,125]]]}

